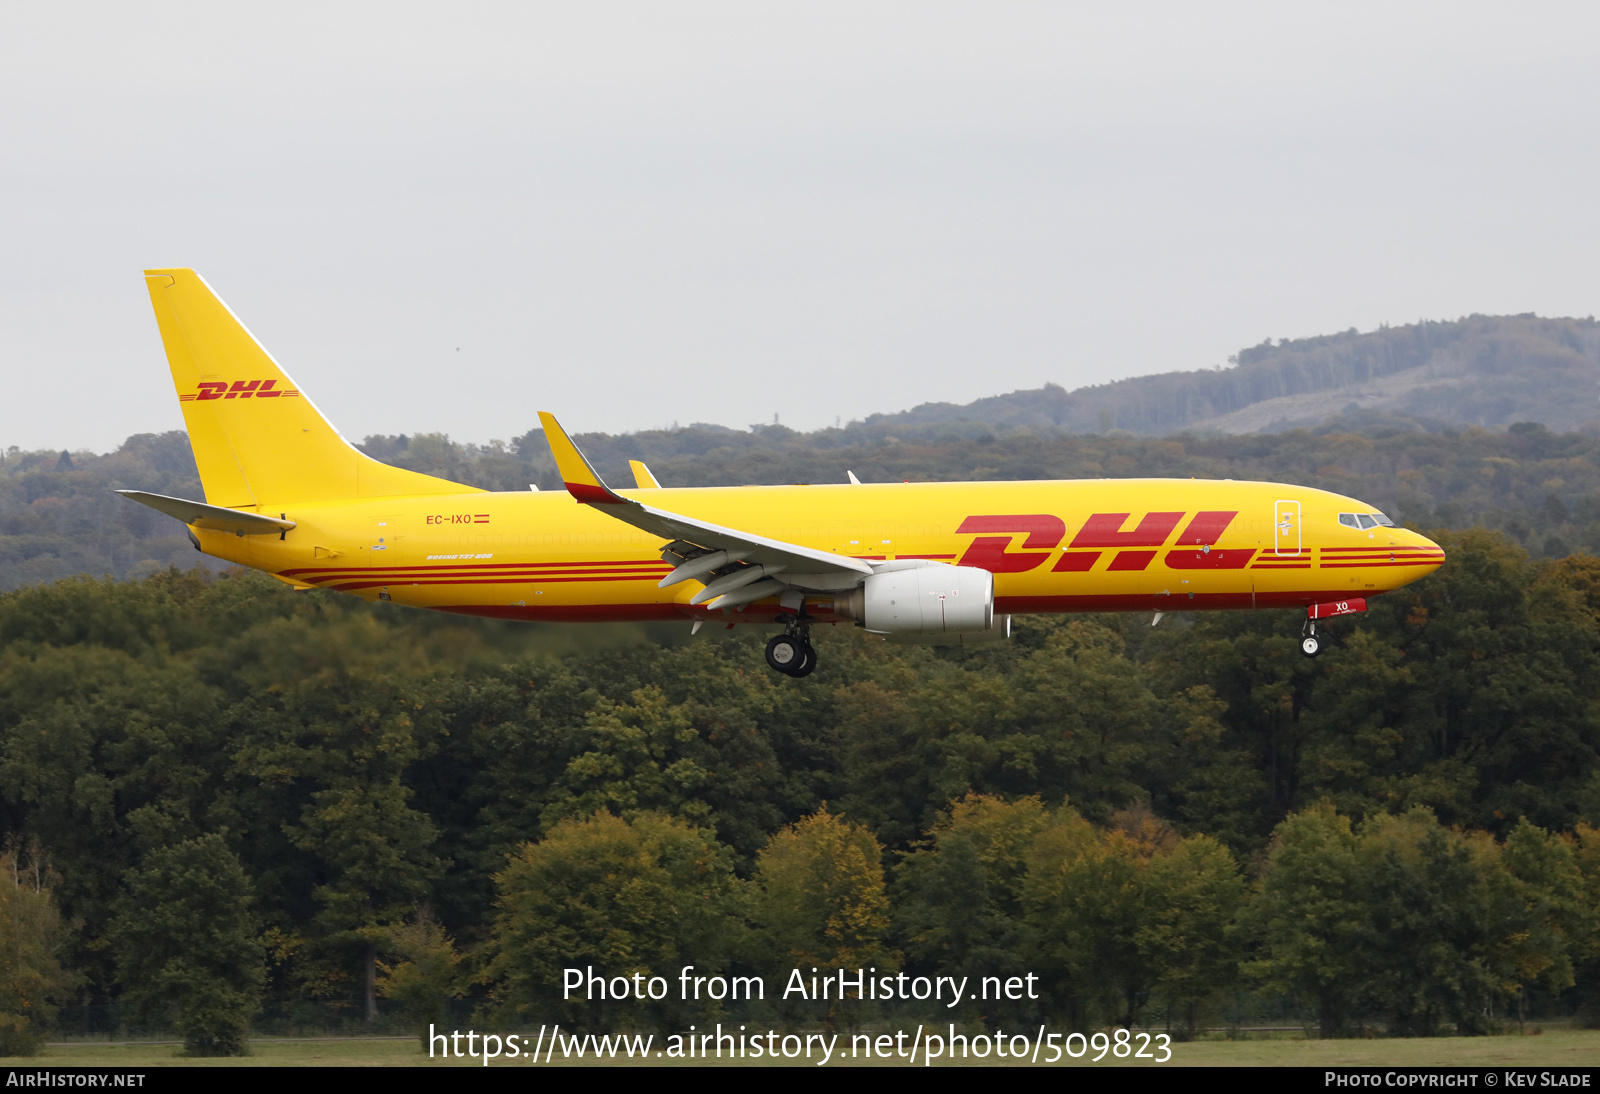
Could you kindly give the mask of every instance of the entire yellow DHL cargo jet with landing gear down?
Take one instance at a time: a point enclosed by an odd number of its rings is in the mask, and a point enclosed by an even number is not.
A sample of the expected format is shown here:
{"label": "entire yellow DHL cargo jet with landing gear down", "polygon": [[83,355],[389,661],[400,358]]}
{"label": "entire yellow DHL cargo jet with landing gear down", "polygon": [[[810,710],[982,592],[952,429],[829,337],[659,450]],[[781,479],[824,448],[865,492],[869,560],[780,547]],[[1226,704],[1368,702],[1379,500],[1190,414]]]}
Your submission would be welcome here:
{"label": "entire yellow DHL cargo jet with landing gear down", "polygon": [[565,493],[486,493],[350,446],[194,270],[147,270],[205,502],[120,491],[197,550],[301,589],[530,621],[781,625],[898,641],[1010,635],[1011,613],[1296,608],[1315,621],[1445,553],[1350,497],[1282,483],[1123,478],[613,489],[541,414]]}

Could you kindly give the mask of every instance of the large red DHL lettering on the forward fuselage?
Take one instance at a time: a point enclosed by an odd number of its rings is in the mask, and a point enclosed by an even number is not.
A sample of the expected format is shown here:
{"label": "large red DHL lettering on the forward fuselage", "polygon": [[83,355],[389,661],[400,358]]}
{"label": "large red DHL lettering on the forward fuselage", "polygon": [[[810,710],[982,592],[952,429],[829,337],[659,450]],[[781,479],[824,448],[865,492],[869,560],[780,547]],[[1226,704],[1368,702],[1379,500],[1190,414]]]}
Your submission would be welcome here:
{"label": "large red DHL lettering on the forward fuselage", "polygon": [[[1138,525],[1126,528],[1131,513],[1093,513],[1067,550],[1051,566],[1051,573],[1085,573],[1094,568],[1107,549],[1115,555],[1107,571],[1144,569],[1166,545],[1173,529],[1187,513],[1146,513]],[[1254,547],[1229,547],[1219,550],[1214,544],[1238,517],[1238,510],[1203,510],[1184,525],[1174,547],[1166,552],[1171,569],[1243,569],[1256,555]],[[958,566],[979,566],[992,574],[1022,574],[1042,566],[1067,536],[1067,521],[1050,513],[1008,513],[995,517],[968,517],[955,529],[960,534],[978,534],[962,555]],[[1003,533],[1003,534],[990,534]],[[1016,534],[1026,533],[1021,550],[1011,550]]]}

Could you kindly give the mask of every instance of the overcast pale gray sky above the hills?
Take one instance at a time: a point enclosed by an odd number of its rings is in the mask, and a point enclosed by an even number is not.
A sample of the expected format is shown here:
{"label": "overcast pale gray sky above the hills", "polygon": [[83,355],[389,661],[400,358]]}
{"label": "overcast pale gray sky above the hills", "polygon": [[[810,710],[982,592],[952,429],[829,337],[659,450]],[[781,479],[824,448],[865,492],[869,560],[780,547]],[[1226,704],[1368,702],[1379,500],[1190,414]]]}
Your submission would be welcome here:
{"label": "overcast pale gray sky above the hills", "polygon": [[154,266],[355,440],[1587,315],[1597,107],[1594,3],[3,0],[0,446],[181,427]]}

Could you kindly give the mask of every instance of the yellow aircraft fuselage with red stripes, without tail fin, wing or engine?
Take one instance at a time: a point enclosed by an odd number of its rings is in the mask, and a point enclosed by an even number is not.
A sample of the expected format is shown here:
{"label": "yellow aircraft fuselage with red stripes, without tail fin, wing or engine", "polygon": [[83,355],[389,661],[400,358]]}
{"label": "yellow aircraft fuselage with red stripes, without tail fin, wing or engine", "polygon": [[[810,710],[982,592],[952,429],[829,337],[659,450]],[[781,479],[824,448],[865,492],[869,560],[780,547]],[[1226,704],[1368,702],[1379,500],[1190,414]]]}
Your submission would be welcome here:
{"label": "yellow aircraft fuselage with red stripes, without tail fin, wing or engine", "polygon": [[[995,611],[1304,608],[1422,577],[1443,552],[1405,528],[1352,528],[1373,507],[1280,483],[1102,478],[632,489],[715,525],[861,560],[925,558],[994,574]],[[691,606],[658,589],[661,536],[566,493],[262,504],[278,536],[197,531],[203,550],[285,581],[416,608],[526,621],[771,621],[774,606]],[[834,619],[826,593],[806,609]]]}

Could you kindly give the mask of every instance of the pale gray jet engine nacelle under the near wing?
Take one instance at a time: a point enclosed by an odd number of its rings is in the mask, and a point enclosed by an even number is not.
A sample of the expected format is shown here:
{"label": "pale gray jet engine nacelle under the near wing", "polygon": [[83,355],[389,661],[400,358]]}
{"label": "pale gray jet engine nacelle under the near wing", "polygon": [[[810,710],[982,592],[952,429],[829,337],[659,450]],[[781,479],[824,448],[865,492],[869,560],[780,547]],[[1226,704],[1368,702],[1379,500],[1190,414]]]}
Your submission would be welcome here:
{"label": "pale gray jet engine nacelle under the near wing", "polygon": [[[888,563],[859,589],[834,600],[834,611],[866,630],[893,638],[1005,638],[1010,617],[995,627],[995,579],[976,566],[906,560]],[[995,633],[995,632],[1000,633]]]}

